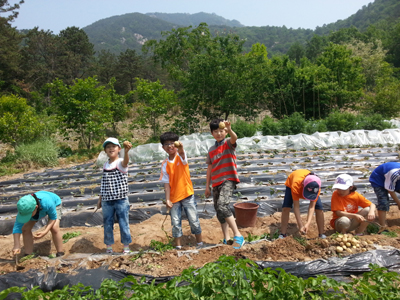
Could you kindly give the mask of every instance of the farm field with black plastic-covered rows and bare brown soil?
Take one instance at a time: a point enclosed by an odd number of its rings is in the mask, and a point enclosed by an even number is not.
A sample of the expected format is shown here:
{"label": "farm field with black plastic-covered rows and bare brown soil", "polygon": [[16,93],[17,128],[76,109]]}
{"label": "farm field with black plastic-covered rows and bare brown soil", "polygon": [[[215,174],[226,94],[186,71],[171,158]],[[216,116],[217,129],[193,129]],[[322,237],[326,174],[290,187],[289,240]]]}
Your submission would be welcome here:
{"label": "farm field with black plastic-covered rows and bare brown soil", "polygon": [[[158,183],[160,162],[137,163],[130,165],[129,186],[131,202],[130,228],[133,243],[132,255],[122,256],[105,254],[101,211],[94,213],[97,202],[101,169],[94,163],[73,166],[68,169],[49,169],[43,172],[25,174],[21,178],[12,178],[0,182],[2,190],[0,200],[1,249],[0,274],[16,270],[11,250],[12,225],[16,213],[16,201],[24,194],[49,190],[59,194],[63,200],[62,233],[79,233],[68,240],[65,256],[52,258],[55,253],[51,236],[37,241],[34,251],[39,257],[19,263],[18,272],[32,269],[45,272],[54,267],[57,272],[73,274],[79,268],[96,269],[108,266],[111,270],[124,270],[129,273],[146,274],[155,277],[175,276],[190,266],[200,268],[206,263],[216,261],[221,255],[237,258],[249,258],[254,261],[307,262],[330,257],[347,257],[374,249],[400,249],[400,212],[397,206],[391,206],[388,214],[387,230],[389,235],[372,234],[359,237],[366,242],[350,252],[338,254],[338,244],[329,236],[333,234],[329,226],[331,219],[330,196],[335,177],[340,173],[353,176],[358,191],[367,199],[375,201],[375,195],[369,185],[370,172],[386,161],[398,160],[398,146],[374,145],[366,148],[316,149],[316,150],[265,150],[238,153],[238,170],[241,184],[234,194],[234,201],[250,201],[260,205],[255,227],[241,228],[244,237],[256,240],[263,234],[273,237],[280,228],[280,207],[284,193],[284,182],[294,169],[306,168],[315,171],[322,179],[321,199],[325,208],[325,230],[327,240],[317,238],[316,225],[313,224],[307,236],[301,236],[297,230],[294,214],[289,221],[289,237],[283,240],[263,240],[258,243],[246,243],[242,249],[222,245],[219,223],[214,216],[210,199],[205,199],[204,184],[206,168],[203,157],[189,159],[192,181],[201,218],[203,240],[207,247],[196,249],[194,236],[186,220],[183,223],[183,251],[169,250],[159,253],[150,248],[152,240],[167,243],[171,234],[169,216],[166,218],[162,205],[164,192]],[[301,205],[303,218],[308,205]],[[161,225],[166,218],[164,227]],[[122,252],[118,224],[114,228],[116,244],[114,252]],[[364,250],[362,248],[365,248]],[[147,252],[149,250],[149,252]]]}

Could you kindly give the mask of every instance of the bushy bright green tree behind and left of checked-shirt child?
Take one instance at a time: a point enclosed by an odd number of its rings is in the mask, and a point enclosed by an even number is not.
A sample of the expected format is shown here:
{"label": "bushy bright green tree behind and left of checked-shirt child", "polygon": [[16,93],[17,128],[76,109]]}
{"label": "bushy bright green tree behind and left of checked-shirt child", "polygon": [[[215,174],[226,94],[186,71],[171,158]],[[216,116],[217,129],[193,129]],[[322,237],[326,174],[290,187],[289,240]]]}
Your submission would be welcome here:
{"label": "bushy bright green tree behind and left of checked-shirt child", "polygon": [[72,85],[57,79],[49,88],[64,138],[69,139],[73,131],[78,135],[76,139],[90,149],[94,141],[104,136],[104,124],[112,121],[110,92],[98,86],[95,77],[74,80]]}

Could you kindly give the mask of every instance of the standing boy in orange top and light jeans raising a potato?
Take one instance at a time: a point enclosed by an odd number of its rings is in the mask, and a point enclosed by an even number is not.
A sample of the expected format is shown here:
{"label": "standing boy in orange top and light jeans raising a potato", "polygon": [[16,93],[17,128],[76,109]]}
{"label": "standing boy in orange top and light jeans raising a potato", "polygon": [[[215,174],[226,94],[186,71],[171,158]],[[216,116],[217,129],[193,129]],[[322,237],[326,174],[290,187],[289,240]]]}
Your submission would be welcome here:
{"label": "standing boy in orange top and light jeans raising a potato", "polygon": [[196,236],[197,246],[202,247],[201,227],[187,156],[182,143],[178,140],[178,135],[173,132],[165,132],[160,136],[162,147],[168,153],[168,158],[161,166],[160,181],[164,183],[167,209],[171,209],[172,236],[175,238],[176,248],[181,249],[182,209],[184,209],[191,232]]}

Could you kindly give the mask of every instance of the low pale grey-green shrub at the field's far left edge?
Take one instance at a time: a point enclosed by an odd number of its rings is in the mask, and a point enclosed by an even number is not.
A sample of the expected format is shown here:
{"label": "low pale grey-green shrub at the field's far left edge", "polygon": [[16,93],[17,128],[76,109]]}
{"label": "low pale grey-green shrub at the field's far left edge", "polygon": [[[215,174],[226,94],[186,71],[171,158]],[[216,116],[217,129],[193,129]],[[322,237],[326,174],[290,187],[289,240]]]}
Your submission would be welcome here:
{"label": "low pale grey-green shrub at the field's far left edge", "polygon": [[36,140],[15,148],[15,160],[27,165],[53,167],[58,164],[58,147],[51,139]]}

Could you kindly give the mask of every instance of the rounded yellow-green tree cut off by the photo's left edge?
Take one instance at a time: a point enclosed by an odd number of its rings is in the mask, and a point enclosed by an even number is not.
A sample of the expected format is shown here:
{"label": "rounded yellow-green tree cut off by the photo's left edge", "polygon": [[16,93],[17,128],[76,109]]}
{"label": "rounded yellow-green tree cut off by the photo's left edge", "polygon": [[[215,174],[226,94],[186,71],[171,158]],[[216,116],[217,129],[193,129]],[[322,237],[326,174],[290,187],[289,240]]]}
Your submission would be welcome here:
{"label": "rounded yellow-green tree cut off by the photo's left edge", "polygon": [[43,136],[45,123],[26,99],[14,95],[0,97],[0,140],[16,146]]}

